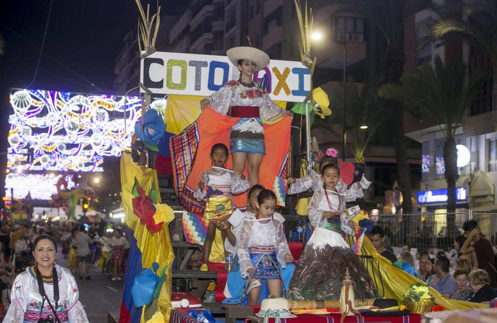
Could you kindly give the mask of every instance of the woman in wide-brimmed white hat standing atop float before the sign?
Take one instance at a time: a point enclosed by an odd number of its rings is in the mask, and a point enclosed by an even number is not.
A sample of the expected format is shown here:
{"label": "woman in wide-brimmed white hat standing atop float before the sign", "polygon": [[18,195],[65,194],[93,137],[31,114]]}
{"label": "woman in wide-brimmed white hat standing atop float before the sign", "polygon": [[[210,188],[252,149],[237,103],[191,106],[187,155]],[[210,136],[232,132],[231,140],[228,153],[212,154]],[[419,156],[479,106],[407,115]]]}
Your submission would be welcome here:
{"label": "woman in wide-brimmed white hat standing atop float before the sign", "polygon": [[274,103],[259,82],[252,81],[254,72],[269,64],[266,53],[253,47],[235,47],[226,54],[240,70],[240,79],[226,82],[200,101],[200,107],[203,110],[209,106],[218,113],[240,118],[231,128],[230,153],[236,174],[243,173],[248,161],[251,187],[259,182],[259,166],[266,154],[261,119],[273,121],[291,112]]}

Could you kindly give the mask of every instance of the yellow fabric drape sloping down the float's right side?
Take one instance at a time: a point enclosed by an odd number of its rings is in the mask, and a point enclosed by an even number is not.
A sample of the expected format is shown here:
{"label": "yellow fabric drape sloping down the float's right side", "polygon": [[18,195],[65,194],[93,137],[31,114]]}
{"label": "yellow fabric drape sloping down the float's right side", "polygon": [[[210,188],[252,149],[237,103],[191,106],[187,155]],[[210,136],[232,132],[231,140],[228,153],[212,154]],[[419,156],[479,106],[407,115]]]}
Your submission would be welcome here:
{"label": "yellow fabric drape sloping down the float's right side", "polygon": [[[354,242],[355,239],[349,237],[347,242]],[[376,261],[380,263],[379,270],[378,266],[375,262],[374,265],[371,264],[371,260],[369,261],[369,265],[365,266],[369,275],[373,278],[376,277],[377,286],[376,289],[379,295],[383,295],[385,298],[394,298],[397,299],[401,304],[403,304],[402,296],[407,293],[407,290],[411,284],[415,282],[423,283],[421,280],[416,277],[408,274],[407,272],[394,267],[390,262],[383,256],[381,256],[373,244],[369,241],[369,239],[364,239],[362,242],[361,254],[372,256]],[[373,276],[374,275],[374,276]],[[383,278],[383,289],[380,284],[379,277]],[[374,283],[374,279],[373,279]],[[474,309],[474,308],[488,308],[488,305],[478,304],[478,303],[470,303],[463,301],[455,301],[449,300],[445,297],[442,297],[440,293],[438,293],[433,288],[429,288],[430,295],[435,298],[435,303],[442,306],[446,310],[465,310],[465,309]]]}

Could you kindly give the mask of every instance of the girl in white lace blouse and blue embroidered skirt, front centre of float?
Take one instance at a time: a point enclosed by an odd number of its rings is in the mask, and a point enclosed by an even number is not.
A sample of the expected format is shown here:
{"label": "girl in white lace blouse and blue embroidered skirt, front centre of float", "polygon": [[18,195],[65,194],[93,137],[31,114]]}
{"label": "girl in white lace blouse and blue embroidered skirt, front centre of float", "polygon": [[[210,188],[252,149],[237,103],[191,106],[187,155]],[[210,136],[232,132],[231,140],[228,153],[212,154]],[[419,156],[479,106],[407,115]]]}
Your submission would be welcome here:
{"label": "girl in white lace blouse and blue embroidered skirt, front centre of float", "polygon": [[[238,244],[238,258],[243,278],[248,284],[266,279],[269,292],[274,297],[281,296],[281,273],[278,265],[286,267],[292,262],[288,243],[281,222],[273,218],[276,208],[276,195],[268,189],[257,196],[258,212],[255,219],[246,219]],[[249,291],[248,305],[259,302],[260,287]]]}

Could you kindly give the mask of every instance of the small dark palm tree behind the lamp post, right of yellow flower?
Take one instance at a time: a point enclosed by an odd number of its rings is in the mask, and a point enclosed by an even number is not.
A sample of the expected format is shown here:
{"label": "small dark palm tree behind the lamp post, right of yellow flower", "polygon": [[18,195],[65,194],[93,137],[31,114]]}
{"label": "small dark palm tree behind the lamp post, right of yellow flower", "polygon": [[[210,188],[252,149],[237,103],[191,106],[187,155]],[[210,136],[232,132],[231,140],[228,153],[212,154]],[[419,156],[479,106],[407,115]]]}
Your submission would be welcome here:
{"label": "small dark palm tree behind the lamp post, right of yellow flower", "polygon": [[[378,130],[385,116],[385,102],[378,99],[377,82],[365,83],[359,89],[354,82],[347,82],[347,114],[345,115],[346,130],[352,135],[354,160],[357,163],[364,163],[364,151],[369,140]],[[333,114],[326,119],[317,119],[316,126],[328,128],[333,131],[335,123],[342,123],[343,116],[343,86],[340,84],[331,89],[331,100]],[[367,126],[367,129],[363,129]],[[362,127],[362,128],[361,128]]]}

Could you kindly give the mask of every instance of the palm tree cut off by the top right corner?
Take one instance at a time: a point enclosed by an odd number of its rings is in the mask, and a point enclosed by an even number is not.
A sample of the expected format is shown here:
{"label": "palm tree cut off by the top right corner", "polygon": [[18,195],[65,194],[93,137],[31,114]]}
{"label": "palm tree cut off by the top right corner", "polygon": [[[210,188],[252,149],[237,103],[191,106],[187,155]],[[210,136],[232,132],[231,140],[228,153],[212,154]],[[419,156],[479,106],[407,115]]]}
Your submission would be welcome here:
{"label": "palm tree cut off by the top right corner", "polygon": [[443,19],[432,28],[435,38],[446,35],[466,36],[476,41],[491,57],[494,69],[493,110],[497,109],[497,1],[467,0],[463,6],[467,20]]}

